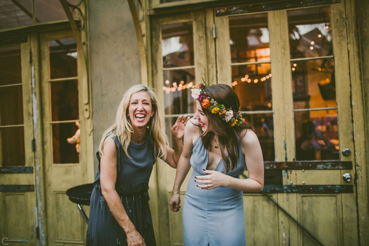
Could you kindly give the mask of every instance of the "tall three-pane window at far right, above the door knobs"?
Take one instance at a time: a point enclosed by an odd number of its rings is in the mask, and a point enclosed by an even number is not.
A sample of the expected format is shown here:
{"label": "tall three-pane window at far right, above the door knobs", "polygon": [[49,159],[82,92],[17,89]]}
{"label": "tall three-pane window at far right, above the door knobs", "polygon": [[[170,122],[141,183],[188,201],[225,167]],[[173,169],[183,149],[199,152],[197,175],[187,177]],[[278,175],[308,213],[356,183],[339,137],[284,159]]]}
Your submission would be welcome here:
{"label": "tall three-pane window at far right, above the door knobs", "polygon": [[339,159],[330,8],[287,13],[296,160]]}

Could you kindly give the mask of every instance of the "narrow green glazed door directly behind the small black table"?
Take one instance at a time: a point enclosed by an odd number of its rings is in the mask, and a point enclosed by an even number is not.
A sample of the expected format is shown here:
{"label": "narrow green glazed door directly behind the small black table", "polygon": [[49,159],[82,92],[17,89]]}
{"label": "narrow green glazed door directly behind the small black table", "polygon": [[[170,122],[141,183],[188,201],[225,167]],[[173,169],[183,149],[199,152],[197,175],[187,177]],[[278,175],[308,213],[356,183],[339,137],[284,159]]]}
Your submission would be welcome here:
{"label": "narrow green glazed door directly behind the small black table", "polygon": [[65,194],[88,182],[79,54],[67,31],[41,35],[40,50],[48,244],[85,244],[87,223]]}

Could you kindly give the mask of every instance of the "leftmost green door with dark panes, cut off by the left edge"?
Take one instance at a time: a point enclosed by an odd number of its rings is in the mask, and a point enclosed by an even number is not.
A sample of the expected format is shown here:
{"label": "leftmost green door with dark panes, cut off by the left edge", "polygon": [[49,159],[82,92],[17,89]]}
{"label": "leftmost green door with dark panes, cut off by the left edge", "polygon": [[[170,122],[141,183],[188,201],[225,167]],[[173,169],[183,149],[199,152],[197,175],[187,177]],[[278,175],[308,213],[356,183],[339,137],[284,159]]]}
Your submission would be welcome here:
{"label": "leftmost green door with dark panes, cut off by the left edge", "polygon": [[[29,39],[0,47],[0,232],[1,239],[8,238],[4,243],[12,245],[36,244]],[[24,171],[24,167],[32,171]],[[28,185],[32,191],[4,191],[6,185],[15,189]]]}

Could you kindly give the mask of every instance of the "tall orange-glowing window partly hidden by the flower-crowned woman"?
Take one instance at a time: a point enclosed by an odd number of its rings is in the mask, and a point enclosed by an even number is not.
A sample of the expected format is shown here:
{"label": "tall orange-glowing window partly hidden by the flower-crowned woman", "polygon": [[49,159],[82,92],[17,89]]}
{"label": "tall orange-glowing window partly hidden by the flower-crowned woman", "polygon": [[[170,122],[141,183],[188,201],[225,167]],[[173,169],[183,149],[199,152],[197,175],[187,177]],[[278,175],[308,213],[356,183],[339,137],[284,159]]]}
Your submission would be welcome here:
{"label": "tall orange-glowing window partly hidden by the flower-crowned woman", "polygon": [[229,17],[232,86],[245,122],[260,140],[265,161],[275,160],[268,14]]}

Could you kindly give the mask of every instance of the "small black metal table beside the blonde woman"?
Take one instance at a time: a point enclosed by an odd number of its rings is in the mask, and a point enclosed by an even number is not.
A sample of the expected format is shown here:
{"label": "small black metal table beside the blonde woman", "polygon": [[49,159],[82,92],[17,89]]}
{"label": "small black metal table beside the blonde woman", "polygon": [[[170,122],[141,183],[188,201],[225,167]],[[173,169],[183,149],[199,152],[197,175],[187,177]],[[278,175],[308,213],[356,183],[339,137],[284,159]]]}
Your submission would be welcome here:
{"label": "small black metal table beside the blonde woman", "polygon": [[66,195],[69,197],[69,200],[74,203],[77,203],[78,210],[87,223],[89,219],[85,211],[81,207],[81,205],[90,206],[90,198],[93,189],[94,189],[93,183],[86,183],[85,185],[72,187],[68,189],[66,192]]}

